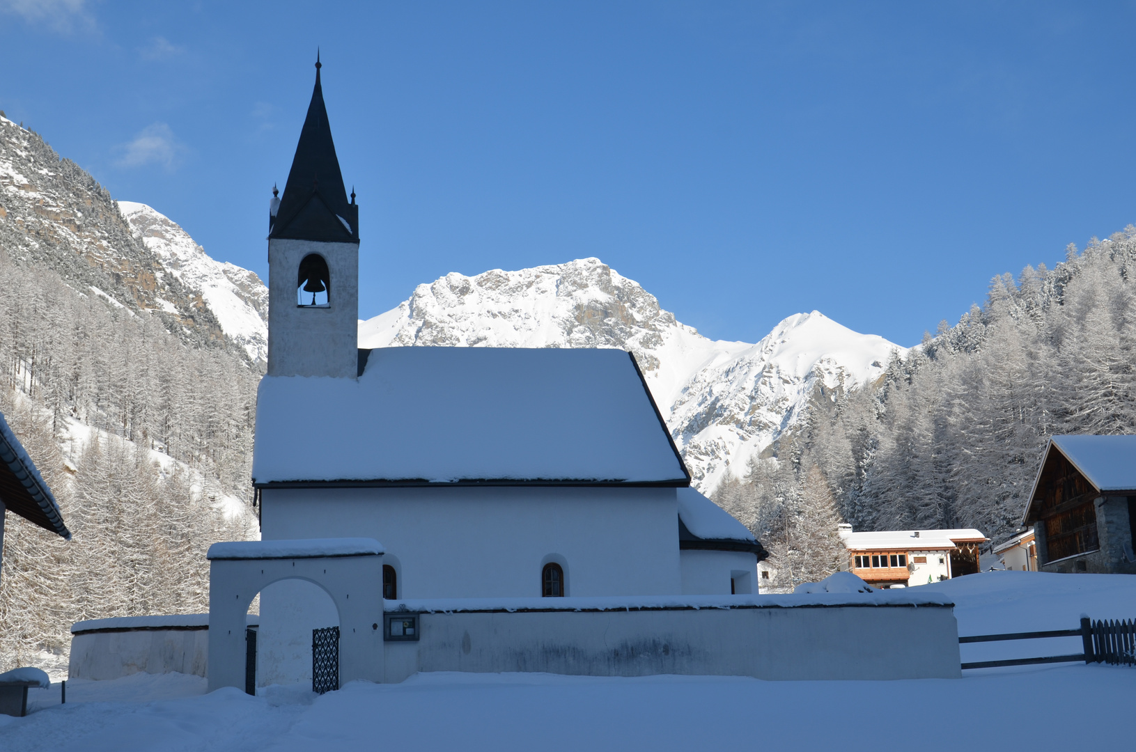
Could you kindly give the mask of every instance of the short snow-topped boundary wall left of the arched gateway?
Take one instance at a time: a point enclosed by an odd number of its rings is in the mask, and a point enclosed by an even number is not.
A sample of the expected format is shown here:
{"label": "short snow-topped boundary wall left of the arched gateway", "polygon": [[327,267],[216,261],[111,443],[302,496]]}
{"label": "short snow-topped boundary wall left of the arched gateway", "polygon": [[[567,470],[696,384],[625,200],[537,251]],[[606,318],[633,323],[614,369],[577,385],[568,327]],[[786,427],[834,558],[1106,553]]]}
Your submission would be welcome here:
{"label": "short snow-topped boundary wall left of the arched gateway", "polygon": [[[250,615],[249,625],[258,617]],[[72,626],[72,679],[117,679],[139,671],[206,676],[209,615],[119,617]]]}

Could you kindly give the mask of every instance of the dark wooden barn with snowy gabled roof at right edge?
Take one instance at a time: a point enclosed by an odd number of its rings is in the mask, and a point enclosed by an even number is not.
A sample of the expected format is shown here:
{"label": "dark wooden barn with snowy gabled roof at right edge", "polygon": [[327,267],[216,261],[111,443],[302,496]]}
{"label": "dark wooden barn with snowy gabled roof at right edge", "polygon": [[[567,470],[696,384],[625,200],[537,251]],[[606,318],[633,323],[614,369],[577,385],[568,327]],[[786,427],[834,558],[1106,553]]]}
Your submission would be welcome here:
{"label": "dark wooden barn with snowy gabled roof at right edge", "polygon": [[1136,435],[1053,436],[1022,524],[1041,571],[1136,574]]}

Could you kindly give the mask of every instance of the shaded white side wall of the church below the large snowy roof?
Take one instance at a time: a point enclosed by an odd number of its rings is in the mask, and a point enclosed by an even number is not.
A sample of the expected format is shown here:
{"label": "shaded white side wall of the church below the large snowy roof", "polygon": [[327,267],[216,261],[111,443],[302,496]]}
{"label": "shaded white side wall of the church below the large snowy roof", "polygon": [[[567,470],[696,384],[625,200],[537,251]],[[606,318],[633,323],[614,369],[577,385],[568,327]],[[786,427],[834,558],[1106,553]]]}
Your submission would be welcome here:
{"label": "shaded white side wall of the church below the large snowy roof", "polygon": [[571,595],[682,592],[674,488],[270,488],[261,504],[266,541],[382,541],[399,598],[538,596],[550,555]]}

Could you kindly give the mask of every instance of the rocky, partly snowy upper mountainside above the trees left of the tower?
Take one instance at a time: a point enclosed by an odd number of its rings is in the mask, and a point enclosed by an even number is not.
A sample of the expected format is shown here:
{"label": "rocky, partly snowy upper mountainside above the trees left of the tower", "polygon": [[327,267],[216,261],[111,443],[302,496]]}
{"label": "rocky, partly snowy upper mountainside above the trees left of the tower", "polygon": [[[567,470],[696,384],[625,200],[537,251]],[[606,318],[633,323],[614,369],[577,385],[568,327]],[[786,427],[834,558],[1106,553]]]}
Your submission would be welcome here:
{"label": "rocky, partly snowy upper mountainside above the trees left of the tower", "polygon": [[[264,308],[256,275],[212,261],[179,227],[142,209],[131,212],[141,223],[132,226],[91,175],[0,117],[0,252],[47,266],[81,294],[149,311],[189,343],[239,350],[250,362],[262,357],[254,323],[245,316],[234,325],[234,311]],[[218,275],[229,279],[240,303],[218,294]]]}

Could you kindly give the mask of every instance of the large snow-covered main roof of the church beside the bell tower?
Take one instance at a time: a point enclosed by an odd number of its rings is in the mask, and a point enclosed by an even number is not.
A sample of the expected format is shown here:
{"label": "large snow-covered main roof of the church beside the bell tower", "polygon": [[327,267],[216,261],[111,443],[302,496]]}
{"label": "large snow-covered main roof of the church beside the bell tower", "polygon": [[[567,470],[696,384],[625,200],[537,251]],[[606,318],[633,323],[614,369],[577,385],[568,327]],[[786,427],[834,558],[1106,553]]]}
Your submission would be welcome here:
{"label": "large snow-covered main roof of the church beside the bell tower", "polygon": [[686,485],[620,350],[382,348],[358,381],[266,376],[252,476]]}

